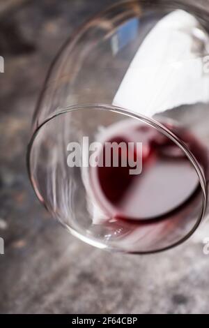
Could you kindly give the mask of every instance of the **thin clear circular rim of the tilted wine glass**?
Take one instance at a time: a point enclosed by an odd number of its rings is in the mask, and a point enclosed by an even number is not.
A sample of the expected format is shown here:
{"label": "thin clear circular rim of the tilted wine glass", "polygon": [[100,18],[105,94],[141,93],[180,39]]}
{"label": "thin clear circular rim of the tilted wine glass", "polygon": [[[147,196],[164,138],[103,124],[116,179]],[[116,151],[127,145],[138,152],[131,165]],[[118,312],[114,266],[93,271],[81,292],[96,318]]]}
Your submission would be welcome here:
{"label": "thin clear circular rim of the tilted wine glass", "polygon": [[59,220],[59,222],[67,228],[72,235],[79,238],[80,240],[86,242],[87,244],[90,244],[91,246],[95,246],[97,248],[107,249],[110,251],[116,251],[118,253],[130,253],[130,254],[139,254],[139,255],[145,255],[145,254],[151,254],[151,253],[160,253],[162,251],[167,251],[170,248],[173,248],[175,246],[178,246],[182,244],[184,241],[189,239],[189,237],[192,236],[192,234],[195,232],[195,230],[199,227],[200,223],[203,221],[204,215],[206,214],[206,208],[207,208],[207,201],[208,201],[208,188],[207,188],[207,182],[205,174],[203,173],[203,170],[201,166],[199,165],[199,162],[196,160],[194,154],[188,149],[187,145],[180,140],[180,138],[169,130],[164,124],[158,122],[157,120],[146,117],[142,114],[138,114],[136,112],[133,112],[132,110],[127,110],[123,107],[118,107],[115,105],[108,105],[108,104],[102,104],[102,103],[93,103],[93,104],[81,104],[81,105],[72,105],[69,107],[65,107],[63,109],[56,110],[52,115],[47,117],[42,123],[36,127],[35,131],[33,132],[33,135],[31,137],[31,140],[29,141],[29,145],[27,147],[26,151],[26,167],[29,174],[29,179],[31,181],[31,185],[33,186],[33,190],[36,193],[36,196],[38,197],[38,200],[45,206],[45,208],[49,211],[50,214],[52,214],[52,211],[49,210],[47,207],[47,202],[45,202],[44,198],[38,191],[38,187],[36,186],[36,181],[33,179],[33,174],[31,173],[31,151],[33,148],[33,142],[36,140],[36,136],[38,135],[40,129],[44,128],[44,126],[51,121],[52,119],[55,119],[56,117],[59,117],[63,114],[68,114],[70,112],[76,112],[78,110],[104,110],[106,112],[114,112],[117,114],[123,114],[126,117],[132,117],[134,119],[138,119],[139,121],[142,121],[149,126],[155,128],[157,131],[168,137],[171,141],[173,141],[180,149],[185,153],[187,158],[189,159],[190,163],[192,163],[192,166],[194,167],[194,170],[199,178],[199,184],[201,186],[201,194],[202,194],[202,208],[199,214],[199,218],[196,220],[196,223],[194,224],[194,227],[185,235],[185,237],[181,238],[179,241],[176,241],[175,243],[166,246],[164,248],[160,248],[157,250],[151,250],[151,251],[128,251],[123,248],[117,248],[111,245],[107,245],[102,243],[102,241],[98,241],[94,237],[88,237],[86,234],[82,234],[81,232],[78,232],[74,228],[70,227],[70,225],[67,225],[66,223],[63,223],[61,219],[56,216],[56,219]]}

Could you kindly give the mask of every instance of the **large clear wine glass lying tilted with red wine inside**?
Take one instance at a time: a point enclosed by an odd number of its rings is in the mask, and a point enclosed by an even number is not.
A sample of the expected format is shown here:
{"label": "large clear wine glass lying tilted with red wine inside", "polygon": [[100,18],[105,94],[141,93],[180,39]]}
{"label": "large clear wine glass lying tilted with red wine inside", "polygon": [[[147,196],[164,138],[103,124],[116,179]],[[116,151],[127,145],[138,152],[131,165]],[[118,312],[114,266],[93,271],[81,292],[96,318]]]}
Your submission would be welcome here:
{"label": "large clear wine glass lying tilted with red wine inside", "polygon": [[203,220],[208,21],[189,1],[123,1],[54,60],[27,163],[40,202],[79,239],[153,253]]}

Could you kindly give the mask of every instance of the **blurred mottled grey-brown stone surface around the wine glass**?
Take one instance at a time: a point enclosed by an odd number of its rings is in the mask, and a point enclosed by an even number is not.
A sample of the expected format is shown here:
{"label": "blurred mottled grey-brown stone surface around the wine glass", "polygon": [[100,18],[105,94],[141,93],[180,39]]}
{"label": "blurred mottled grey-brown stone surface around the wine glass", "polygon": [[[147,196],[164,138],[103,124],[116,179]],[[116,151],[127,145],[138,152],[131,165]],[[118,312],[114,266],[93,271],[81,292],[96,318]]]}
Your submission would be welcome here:
{"label": "blurred mottled grey-brown stone surface around the wine glass", "polygon": [[29,183],[26,146],[49,64],[82,22],[113,2],[0,1],[0,313],[209,313],[207,221],[166,253],[106,253],[65,231]]}

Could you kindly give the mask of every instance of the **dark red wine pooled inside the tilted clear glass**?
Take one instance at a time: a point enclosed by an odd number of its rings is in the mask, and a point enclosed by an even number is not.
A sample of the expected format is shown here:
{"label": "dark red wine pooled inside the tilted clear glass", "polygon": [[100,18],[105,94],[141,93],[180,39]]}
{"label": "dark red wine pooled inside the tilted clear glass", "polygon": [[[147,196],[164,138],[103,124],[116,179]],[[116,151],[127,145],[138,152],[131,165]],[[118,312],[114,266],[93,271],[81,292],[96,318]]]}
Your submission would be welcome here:
{"label": "dark red wine pooled inside the tilted clear glass", "polygon": [[[203,167],[207,165],[206,151],[189,131],[166,124],[187,144]],[[119,151],[118,167],[105,166],[107,156],[105,142],[142,143],[142,154],[136,147]],[[191,162],[174,142],[155,128],[130,119],[107,128],[102,136],[103,165],[91,167],[91,185],[100,208],[110,218],[148,220],[162,218],[178,210],[189,201],[199,187],[199,179]],[[128,147],[127,147],[128,149]],[[141,156],[142,171],[130,174],[130,165],[123,167],[122,159],[132,156],[136,161]]]}

